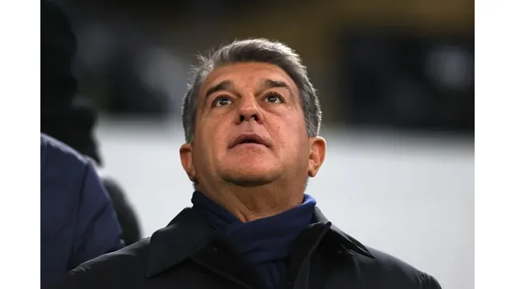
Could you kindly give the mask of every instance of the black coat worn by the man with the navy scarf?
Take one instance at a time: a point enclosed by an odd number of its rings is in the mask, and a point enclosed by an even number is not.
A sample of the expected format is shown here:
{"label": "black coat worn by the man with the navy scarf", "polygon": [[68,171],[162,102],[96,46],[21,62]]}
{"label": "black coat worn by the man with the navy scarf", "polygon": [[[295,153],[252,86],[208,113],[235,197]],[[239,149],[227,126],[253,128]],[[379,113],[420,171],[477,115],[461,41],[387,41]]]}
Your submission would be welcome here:
{"label": "black coat worn by the man with the navy scarf", "polygon": [[[284,288],[441,288],[428,274],[361,245],[315,207],[294,241]],[[191,208],[166,228],[68,273],[58,288],[264,288],[255,271]]]}

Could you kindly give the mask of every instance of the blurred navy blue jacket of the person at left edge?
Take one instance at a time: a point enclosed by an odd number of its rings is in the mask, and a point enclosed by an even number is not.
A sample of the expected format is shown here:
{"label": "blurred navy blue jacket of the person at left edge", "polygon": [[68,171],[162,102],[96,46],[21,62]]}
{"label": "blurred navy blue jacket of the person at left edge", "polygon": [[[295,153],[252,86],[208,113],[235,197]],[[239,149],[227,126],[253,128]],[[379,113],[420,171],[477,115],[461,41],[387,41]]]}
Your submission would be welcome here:
{"label": "blurred navy blue jacket of the person at left edge", "polygon": [[41,286],[122,247],[120,225],[93,164],[41,135]]}

